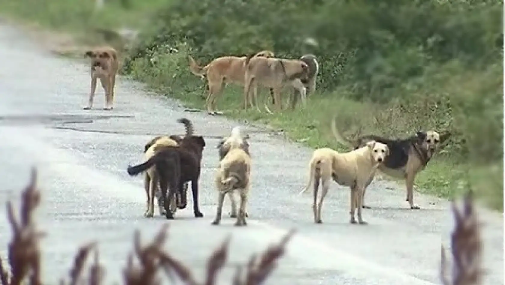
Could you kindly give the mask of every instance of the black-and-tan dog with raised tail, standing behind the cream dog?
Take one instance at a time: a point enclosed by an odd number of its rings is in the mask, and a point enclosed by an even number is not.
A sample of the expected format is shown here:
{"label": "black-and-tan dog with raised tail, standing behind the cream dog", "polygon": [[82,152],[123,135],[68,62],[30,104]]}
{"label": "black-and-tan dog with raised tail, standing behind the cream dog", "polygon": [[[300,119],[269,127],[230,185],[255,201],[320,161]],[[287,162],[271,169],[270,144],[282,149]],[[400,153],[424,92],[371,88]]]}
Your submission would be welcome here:
{"label": "black-and-tan dog with raised tail, standing behind the cream dog", "polygon": [[[379,165],[378,169],[389,177],[405,179],[407,191],[406,200],[409,201],[410,208],[421,209],[420,206],[414,204],[414,180],[417,174],[426,167],[426,164],[430,161],[435,151],[449,138],[450,134],[440,135],[435,131],[417,132],[416,135],[406,139],[387,139],[380,136],[361,136],[358,134],[356,136],[357,138],[352,140],[342,135],[341,130],[336,126],[335,119],[336,118],[333,118],[331,122],[331,130],[335,139],[340,143],[346,144],[353,149],[362,147],[370,140],[382,142],[387,145],[390,154],[385,161]],[[370,185],[372,180],[373,178],[368,181],[366,187]],[[363,199],[365,199],[365,193],[363,193]],[[365,205],[365,201],[363,201],[363,207],[370,208]]]}

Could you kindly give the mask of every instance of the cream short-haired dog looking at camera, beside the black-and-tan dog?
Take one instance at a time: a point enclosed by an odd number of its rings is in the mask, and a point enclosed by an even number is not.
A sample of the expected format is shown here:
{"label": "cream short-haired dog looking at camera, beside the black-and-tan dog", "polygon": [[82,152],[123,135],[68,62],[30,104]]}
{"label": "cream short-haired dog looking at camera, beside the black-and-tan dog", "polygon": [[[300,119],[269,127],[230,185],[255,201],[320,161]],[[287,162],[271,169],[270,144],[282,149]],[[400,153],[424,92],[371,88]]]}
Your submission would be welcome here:
{"label": "cream short-haired dog looking at camera, beside the black-and-tan dog", "polygon": [[[316,149],[309,163],[309,184],[299,193],[305,193],[311,185],[313,186],[314,222],[323,222],[321,218],[323,200],[328,194],[330,179],[333,179],[339,185],[350,188],[349,222],[356,223],[355,210],[358,209],[358,222],[367,224],[362,217],[363,192],[366,183],[388,154],[387,145],[376,141],[369,141],[366,146],[347,153],[338,153],[330,148]],[[316,204],[320,180],[323,192],[319,203]]]}

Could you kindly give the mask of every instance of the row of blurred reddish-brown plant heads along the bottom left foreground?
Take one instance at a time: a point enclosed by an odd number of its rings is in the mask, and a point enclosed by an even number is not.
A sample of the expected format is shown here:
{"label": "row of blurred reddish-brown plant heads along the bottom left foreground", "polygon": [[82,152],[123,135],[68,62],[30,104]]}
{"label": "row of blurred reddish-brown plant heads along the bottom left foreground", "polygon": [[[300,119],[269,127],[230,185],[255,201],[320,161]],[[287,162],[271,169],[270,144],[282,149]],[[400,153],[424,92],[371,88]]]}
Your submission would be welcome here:
{"label": "row of blurred reddish-brown plant heads along the bottom left foreground", "polygon": [[[7,202],[7,214],[12,226],[13,237],[8,249],[10,270],[5,268],[6,264],[3,264],[0,259],[0,285],[26,284],[26,280],[31,285],[43,283],[40,274],[39,240],[44,234],[35,229],[32,219],[33,212],[40,203],[40,192],[36,188],[35,179],[36,172],[33,169],[30,184],[22,193],[20,221],[15,217],[11,201]],[[168,224],[163,225],[155,239],[146,246],[141,245],[140,232],[135,231],[134,252],[140,264],[133,263],[133,254],[128,255],[126,267],[123,269],[123,284],[159,285],[161,284],[158,276],[160,269],[172,281],[174,281],[175,274],[184,284],[188,285],[216,284],[216,276],[228,257],[230,238],[227,238],[209,257],[206,279],[204,282],[198,282],[189,268],[163,250],[167,239],[167,228]],[[239,266],[233,278],[233,285],[262,284],[275,269],[277,259],[284,254],[285,246],[293,234],[294,231],[291,230],[278,244],[270,246],[259,259],[253,255],[247,263],[245,274],[242,274],[242,267]],[[86,259],[92,251],[94,259],[87,270],[87,279],[83,280]],[[62,279],[60,284],[99,285],[103,283],[105,268],[99,262],[99,252],[95,242],[88,243],[78,250],[69,276],[69,282]]]}

